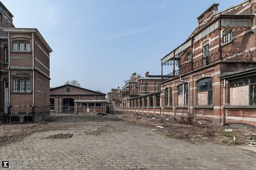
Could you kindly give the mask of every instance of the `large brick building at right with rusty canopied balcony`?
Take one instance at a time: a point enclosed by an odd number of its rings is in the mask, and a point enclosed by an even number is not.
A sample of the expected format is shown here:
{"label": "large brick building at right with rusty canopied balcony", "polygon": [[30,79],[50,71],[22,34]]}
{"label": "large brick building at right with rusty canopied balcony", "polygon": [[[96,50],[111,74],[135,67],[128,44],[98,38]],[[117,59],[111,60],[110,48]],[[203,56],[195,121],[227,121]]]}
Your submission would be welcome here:
{"label": "large brick building at right with rusty canopied balcony", "polygon": [[[193,114],[216,125],[256,127],[256,3],[213,4],[187,40],[162,60],[161,116]],[[174,67],[174,66],[178,66]]]}

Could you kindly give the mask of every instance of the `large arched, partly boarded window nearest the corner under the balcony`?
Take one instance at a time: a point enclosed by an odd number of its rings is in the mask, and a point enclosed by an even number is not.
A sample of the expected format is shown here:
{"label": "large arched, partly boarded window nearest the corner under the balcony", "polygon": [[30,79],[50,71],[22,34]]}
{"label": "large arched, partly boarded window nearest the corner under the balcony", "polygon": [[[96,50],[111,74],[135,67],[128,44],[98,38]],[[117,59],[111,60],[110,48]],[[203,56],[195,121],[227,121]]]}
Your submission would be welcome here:
{"label": "large arched, partly boarded window nearest the corner under the balcony", "polygon": [[212,106],[212,77],[197,83],[198,106]]}

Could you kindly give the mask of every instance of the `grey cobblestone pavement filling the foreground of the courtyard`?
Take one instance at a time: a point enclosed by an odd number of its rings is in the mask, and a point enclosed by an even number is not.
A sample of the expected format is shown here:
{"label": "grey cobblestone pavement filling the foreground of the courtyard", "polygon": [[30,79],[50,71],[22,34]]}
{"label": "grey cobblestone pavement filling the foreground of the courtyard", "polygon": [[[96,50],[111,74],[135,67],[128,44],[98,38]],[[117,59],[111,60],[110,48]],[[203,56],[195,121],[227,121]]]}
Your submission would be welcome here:
{"label": "grey cobblestone pavement filling the foreground of the courtyard", "polygon": [[[46,139],[63,133],[72,137]],[[195,145],[122,121],[35,133],[0,149],[2,161],[26,165],[19,169],[256,169],[255,152]]]}

